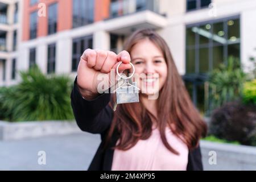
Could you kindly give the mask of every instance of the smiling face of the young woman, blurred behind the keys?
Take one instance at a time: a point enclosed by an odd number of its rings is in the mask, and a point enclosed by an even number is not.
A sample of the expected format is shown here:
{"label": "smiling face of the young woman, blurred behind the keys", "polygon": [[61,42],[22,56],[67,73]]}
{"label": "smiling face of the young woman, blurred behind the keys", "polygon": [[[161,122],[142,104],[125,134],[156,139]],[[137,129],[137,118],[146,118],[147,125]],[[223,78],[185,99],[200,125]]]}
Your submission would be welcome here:
{"label": "smiling face of the young woman, blurred behind the keys", "polygon": [[[141,93],[147,96],[158,93],[167,78],[167,64],[163,52],[150,39],[143,39],[134,45],[130,56],[135,76],[139,76],[135,80]],[[130,69],[129,72],[133,70]]]}

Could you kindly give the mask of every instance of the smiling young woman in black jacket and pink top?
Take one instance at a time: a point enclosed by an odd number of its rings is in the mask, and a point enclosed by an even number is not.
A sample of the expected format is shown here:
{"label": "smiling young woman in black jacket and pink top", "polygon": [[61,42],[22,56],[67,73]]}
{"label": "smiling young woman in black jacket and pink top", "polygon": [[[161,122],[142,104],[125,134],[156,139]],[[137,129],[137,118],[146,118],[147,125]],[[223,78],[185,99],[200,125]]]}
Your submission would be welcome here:
{"label": "smiling young woman in black jacket and pink top", "polygon": [[[202,170],[200,137],[207,126],[193,106],[166,42],[152,30],[135,31],[125,51],[86,49],[71,93],[82,131],[101,134],[89,170]],[[115,94],[97,92],[100,73],[111,69],[143,73],[139,102],[119,104]],[[155,76],[157,73],[158,76]],[[155,84],[158,86],[154,86]],[[149,96],[159,93],[157,99]]]}

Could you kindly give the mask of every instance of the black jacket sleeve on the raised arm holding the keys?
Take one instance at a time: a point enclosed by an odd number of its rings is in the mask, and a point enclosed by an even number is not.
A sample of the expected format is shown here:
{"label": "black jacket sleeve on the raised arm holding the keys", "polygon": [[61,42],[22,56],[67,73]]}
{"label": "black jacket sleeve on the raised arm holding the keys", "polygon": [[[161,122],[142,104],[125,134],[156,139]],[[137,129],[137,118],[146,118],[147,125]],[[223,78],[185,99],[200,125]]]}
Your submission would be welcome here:
{"label": "black jacket sleeve on the raised arm holding the keys", "polygon": [[71,105],[77,125],[82,131],[93,134],[104,133],[113,118],[113,110],[108,105],[111,94],[103,93],[94,100],[87,101],[82,98],[76,82],[77,78],[71,92]]}

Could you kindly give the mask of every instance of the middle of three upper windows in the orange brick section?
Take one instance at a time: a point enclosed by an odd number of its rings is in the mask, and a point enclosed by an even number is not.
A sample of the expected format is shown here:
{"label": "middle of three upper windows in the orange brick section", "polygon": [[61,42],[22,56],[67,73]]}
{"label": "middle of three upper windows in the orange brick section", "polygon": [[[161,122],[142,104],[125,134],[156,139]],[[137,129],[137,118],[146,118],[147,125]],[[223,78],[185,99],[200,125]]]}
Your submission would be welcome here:
{"label": "middle of three upper windows in the orange brick section", "polygon": [[57,3],[48,7],[48,35],[57,31]]}

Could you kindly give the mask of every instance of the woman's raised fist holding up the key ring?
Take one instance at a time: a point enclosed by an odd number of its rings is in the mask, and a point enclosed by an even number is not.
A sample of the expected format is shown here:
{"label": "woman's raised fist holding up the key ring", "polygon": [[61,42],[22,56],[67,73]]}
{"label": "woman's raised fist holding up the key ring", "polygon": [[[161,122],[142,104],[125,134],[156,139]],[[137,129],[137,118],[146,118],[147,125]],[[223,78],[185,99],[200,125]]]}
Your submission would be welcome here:
{"label": "woman's raised fist holding up the key ring", "polygon": [[[95,49],[86,49],[80,58],[79,66],[77,68],[77,85],[80,93],[86,100],[92,100],[98,96],[98,80],[100,73],[106,74],[110,85],[110,71],[118,68],[118,72],[122,73],[125,69],[130,69],[131,57],[127,51],[121,51],[118,55],[112,51],[103,51]],[[117,80],[115,80],[117,82]],[[113,83],[112,83],[113,84]]]}

